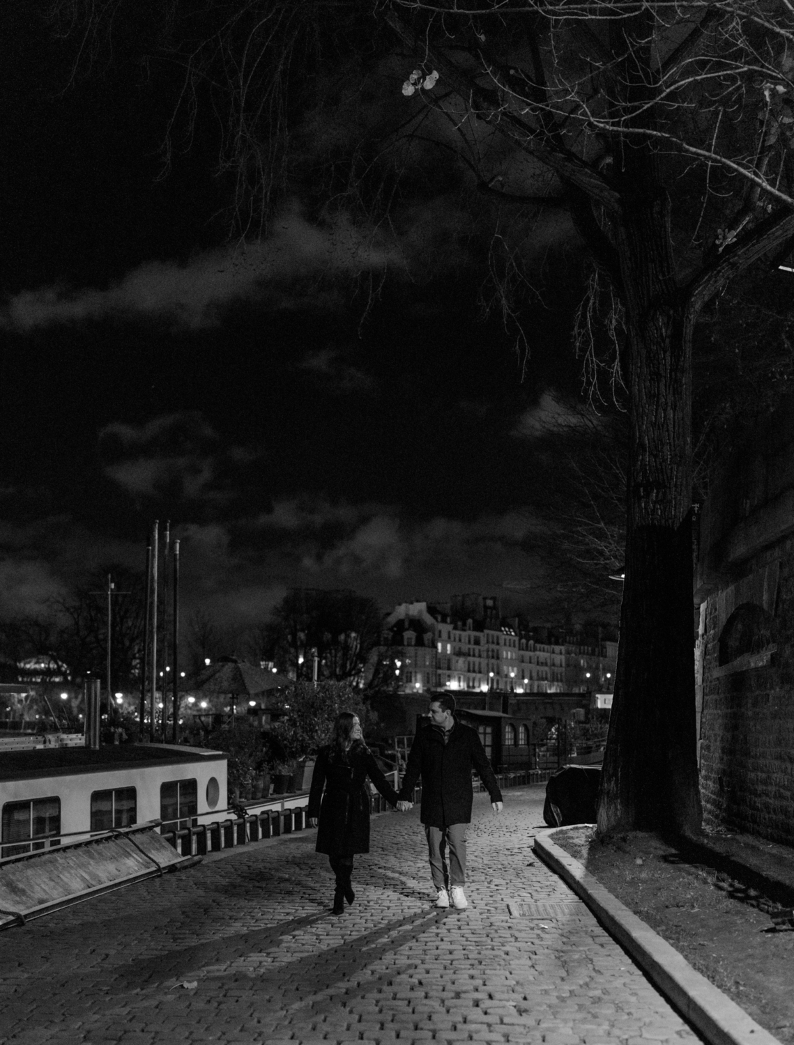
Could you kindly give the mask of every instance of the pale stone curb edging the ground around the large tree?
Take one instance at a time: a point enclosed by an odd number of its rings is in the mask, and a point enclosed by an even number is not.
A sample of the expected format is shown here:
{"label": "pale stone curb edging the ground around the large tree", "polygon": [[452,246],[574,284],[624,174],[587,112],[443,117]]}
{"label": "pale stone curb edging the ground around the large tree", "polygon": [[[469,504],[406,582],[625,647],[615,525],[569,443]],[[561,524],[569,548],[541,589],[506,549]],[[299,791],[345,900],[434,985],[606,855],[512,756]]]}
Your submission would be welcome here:
{"label": "pale stone curb edging the ground around the large tree", "polygon": [[[581,827],[581,825],[576,825]],[[679,952],[608,892],[586,868],[540,832],[534,850],[595,914],[649,979],[711,1045],[780,1045],[747,1013],[697,972]]]}

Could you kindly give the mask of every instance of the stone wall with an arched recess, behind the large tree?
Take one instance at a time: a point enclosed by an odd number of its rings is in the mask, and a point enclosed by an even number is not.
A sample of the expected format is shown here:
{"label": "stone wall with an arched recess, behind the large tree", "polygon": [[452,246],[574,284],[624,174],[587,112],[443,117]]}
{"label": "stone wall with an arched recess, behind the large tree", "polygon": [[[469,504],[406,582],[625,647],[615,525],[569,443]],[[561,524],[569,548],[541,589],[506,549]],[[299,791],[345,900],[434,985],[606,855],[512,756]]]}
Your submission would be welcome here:
{"label": "stone wall with an arched recess, behind the large tree", "polygon": [[704,823],[794,844],[794,401],[724,462],[696,603]]}

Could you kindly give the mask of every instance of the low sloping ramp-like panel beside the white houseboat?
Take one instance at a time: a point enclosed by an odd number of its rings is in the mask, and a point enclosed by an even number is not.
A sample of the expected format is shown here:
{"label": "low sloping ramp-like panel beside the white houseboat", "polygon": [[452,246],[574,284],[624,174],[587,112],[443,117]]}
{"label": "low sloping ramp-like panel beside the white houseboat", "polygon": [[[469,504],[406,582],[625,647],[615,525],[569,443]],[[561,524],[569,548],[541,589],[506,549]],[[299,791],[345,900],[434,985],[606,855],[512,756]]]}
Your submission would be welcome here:
{"label": "low sloping ramp-like panel beside the white houseboat", "polygon": [[162,835],[160,820],[0,860],[0,929],[144,878],[191,867]]}

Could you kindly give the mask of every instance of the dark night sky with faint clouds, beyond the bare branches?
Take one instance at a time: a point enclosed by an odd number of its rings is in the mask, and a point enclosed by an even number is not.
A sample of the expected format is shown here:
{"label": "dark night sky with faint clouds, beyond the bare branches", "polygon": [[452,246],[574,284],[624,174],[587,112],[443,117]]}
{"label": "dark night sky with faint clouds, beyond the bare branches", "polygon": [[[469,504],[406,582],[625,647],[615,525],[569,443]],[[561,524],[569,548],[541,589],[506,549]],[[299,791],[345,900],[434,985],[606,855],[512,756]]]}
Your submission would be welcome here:
{"label": "dark night sky with faint clouds, beyond the bare branches", "polygon": [[296,585],[547,612],[520,543],[566,410],[552,396],[579,389],[579,289],[554,276],[575,245],[554,260],[539,228],[528,359],[481,320],[462,248],[426,280],[406,271],[425,205],[400,250],[300,192],[265,239],[229,246],[211,123],[158,179],[162,85],[119,61],[69,86],[71,45],[27,7],[6,20],[0,614],[142,567],[154,518],[182,540],[187,612],[227,623]]}

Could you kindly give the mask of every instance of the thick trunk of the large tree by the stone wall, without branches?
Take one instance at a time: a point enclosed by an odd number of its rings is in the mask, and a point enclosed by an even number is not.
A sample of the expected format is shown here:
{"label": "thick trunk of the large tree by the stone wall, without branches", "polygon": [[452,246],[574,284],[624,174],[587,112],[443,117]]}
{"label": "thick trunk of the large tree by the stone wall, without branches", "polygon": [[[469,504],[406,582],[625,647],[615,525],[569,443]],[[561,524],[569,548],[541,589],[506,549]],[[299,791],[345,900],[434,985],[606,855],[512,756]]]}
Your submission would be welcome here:
{"label": "thick trunk of the large tree by the stone wall, without branches", "polygon": [[627,208],[619,238],[631,448],[598,830],[696,832],[690,306],[675,284],[666,201]]}

